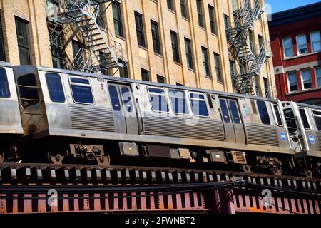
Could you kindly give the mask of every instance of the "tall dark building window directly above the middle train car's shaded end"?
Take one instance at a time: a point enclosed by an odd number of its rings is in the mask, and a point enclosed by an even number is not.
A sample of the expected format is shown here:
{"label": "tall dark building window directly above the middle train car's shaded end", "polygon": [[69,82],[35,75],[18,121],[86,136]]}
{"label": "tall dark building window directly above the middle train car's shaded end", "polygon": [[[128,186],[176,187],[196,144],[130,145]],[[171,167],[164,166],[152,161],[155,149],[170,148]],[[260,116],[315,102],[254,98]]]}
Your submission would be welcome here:
{"label": "tall dark building window directly above the middle train car's shaded end", "polygon": [[19,59],[21,65],[30,65],[28,22],[16,18],[16,36],[18,38]]}

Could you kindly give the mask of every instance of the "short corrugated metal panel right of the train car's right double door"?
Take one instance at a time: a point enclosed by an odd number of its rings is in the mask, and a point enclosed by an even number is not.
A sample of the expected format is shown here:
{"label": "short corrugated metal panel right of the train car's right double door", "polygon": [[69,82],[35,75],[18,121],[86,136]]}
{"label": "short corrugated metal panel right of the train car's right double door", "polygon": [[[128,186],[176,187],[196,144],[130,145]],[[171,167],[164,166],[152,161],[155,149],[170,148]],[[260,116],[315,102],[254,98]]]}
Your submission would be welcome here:
{"label": "short corrugated metal panel right of the train car's right double door", "polygon": [[248,124],[245,128],[248,133],[248,144],[280,146],[275,126]]}

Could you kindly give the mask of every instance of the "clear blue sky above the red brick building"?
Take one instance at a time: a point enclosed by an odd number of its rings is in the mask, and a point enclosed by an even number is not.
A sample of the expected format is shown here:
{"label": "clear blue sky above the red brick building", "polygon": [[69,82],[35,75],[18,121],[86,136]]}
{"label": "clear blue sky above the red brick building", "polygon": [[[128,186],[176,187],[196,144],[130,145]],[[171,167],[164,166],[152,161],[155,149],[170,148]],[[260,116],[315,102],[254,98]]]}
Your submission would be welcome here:
{"label": "clear blue sky above the red brick building", "polygon": [[272,13],[276,13],[319,1],[320,0],[266,0],[266,3],[272,6]]}

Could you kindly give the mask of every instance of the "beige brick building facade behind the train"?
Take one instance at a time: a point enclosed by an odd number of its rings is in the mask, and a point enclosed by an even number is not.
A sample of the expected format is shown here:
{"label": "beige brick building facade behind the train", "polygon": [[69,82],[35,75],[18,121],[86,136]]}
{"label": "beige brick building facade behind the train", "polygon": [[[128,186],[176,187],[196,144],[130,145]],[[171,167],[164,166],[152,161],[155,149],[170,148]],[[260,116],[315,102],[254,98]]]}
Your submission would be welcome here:
{"label": "beige brick building facade behind the train", "polygon": [[[46,7],[50,5],[48,1],[0,1],[3,36],[1,49],[3,49],[5,61],[13,65],[20,64],[21,54],[26,58],[25,55],[29,52],[31,64],[53,66],[49,27],[53,27],[54,24],[51,23],[49,26],[47,20]],[[101,8],[105,16],[105,23],[113,33],[115,40],[123,46],[123,56],[127,63],[129,78],[141,80],[143,69],[144,72],[148,72],[150,81],[161,81],[163,78],[165,83],[233,92],[230,67],[233,59],[228,51],[225,22],[228,17],[230,24],[233,24],[233,9],[238,7],[236,4],[243,4],[243,1],[122,0],[118,5],[121,36],[115,34],[116,7],[113,9],[111,3],[104,3]],[[261,4],[264,6],[264,0]],[[144,47],[138,45],[136,15],[141,16],[142,19]],[[200,18],[203,20],[202,26],[200,26]],[[24,21],[26,25],[28,41],[25,43],[24,41],[19,43],[21,34],[17,33],[16,26],[19,26],[17,20]],[[155,24],[157,25],[158,39],[153,39],[156,36],[155,29],[152,33],[152,24],[153,28]],[[71,40],[81,41],[82,39],[79,38],[79,34],[72,36],[76,33],[74,29],[67,29],[65,33],[61,38],[63,43],[61,46],[63,46],[64,55],[72,58],[70,56],[73,53]],[[173,56],[175,55],[173,36],[177,38],[176,61]],[[255,21],[252,36],[255,47],[259,45],[260,38],[265,41],[270,39],[266,13]],[[190,68],[188,68],[190,64],[188,65],[186,41],[190,41],[190,58],[193,65]],[[21,42],[24,44],[21,45]],[[159,53],[155,53],[153,42],[159,43]],[[205,73],[205,71],[208,72]],[[114,69],[113,73],[115,72]],[[218,77],[218,72],[221,78]],[[117,71],[115,76],[119,75]],[[258,91],[264,96],[266,87],[273,88],[274,85],[272,58],[269,58],[260,71]]]}

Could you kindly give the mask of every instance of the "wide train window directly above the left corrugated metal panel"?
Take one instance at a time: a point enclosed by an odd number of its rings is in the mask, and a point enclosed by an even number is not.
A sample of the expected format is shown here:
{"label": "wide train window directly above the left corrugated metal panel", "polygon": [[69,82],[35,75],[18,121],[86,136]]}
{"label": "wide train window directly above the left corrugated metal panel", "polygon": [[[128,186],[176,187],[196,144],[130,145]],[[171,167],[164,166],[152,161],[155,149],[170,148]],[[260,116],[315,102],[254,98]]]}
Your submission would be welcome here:
{"label": "wide train window directly above the left corrugated metal panel", "polygon": [[75,103],[94,104],[91,83],[88,78],[71,77],[70,84]]}

